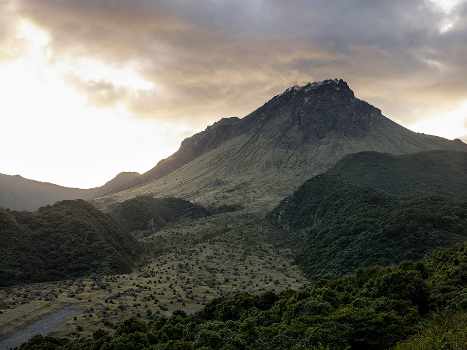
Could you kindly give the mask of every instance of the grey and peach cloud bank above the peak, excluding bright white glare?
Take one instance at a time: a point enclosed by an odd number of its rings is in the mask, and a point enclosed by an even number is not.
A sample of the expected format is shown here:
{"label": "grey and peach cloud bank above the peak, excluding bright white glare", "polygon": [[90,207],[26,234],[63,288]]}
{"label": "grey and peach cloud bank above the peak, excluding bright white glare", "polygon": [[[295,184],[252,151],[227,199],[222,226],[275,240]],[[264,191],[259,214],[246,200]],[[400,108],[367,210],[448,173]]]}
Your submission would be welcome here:
{"label": "grey and peach cloud bank above the peak, excluding bright white glare", "polygon": [[152,82],[132,91],[68,76],[91,104],[123,101],[135,117],[199,127],[326,78],[406,124],[467,100],[466,1],[450,14],[423,0],[16,3],[48,32],[52,63],[92,59]]}

